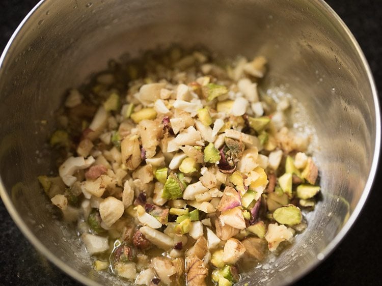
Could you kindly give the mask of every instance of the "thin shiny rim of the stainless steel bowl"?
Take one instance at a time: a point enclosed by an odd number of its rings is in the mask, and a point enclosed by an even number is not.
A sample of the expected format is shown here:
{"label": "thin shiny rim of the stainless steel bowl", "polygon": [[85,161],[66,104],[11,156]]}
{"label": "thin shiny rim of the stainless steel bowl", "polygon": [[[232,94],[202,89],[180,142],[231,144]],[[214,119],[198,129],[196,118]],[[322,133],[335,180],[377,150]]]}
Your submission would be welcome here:
{"label": "thin shiny rim of the stainless steel bowl", "polygon": [[[31,16],[42,6],[42,4],[46,2],[46,0],[40,0],[35,7],[23,18],[23,20],[20,22],[20,24],[17,26],[16,30],[12,34],[11,38],[9,39],[6,47],[4,48],[4,51],[2,52],[0,56],[0,71],[2,69],[4,60],[6,58],[6,55],[8,53],[8,50],[12,46],[12,43],[20,30],[22,30],[24,24],[31,18]],[[312,260],[309,262],[307,267],[305,267],[302,270],[299,270],[295,272],[293,277],[284,277],[286,279],[286,283],[290,284],[292,282],[295,282],[299,279],[301,279],[303,276],[305,276],[307,273],[312,271],[313,268],[317,267],[319,264],[321,264],[333,251],[334,249],[340,244],[340,242],[343,240],[347,232],[350,230],[354,222],[357,220],[360,212],[362,211],[362,208],[365,205],[366,199],[371,191],[374,178],[376,175],[376,170],[378,166],[378,160],[379,160],[379,151],[380,151],[380,135],[381,135],[381,118],[380,118],[380,109],[379,109],[379,100],[377,95],[377,90],[375,87],[375,82],[373,75],[370,70],[370,66],[366,60],[366,57],[358,44],[356,38],[353,36],[353,34],[350,32],[347,25],[343,22],[343,20],[340,18],[340,16],[323,0],[317,0],[316,4],[319,6],[320,11],[325,13],[326,17],[331,17],[334,22],[337,22],[339,25],[339,28],[342,29],[342,31],[345,33],[344,36],[347,36],[350,40],[351,44],[353,45],[354,49],[357,51],[357,54],[359,56],[359,59],[361,60],[363,64],[363,68],[365,69],[366,75],[369,80],[369,85],[372,91],[372,97],[374,102],[374,112],[375,112],[375,147],[374,147],[374,155],[373,160],[370,168],[370,173],[368,176],[368,179],[366,181],[364,190],[361,194],[361,197],[359,199],[359,202],[357,203],[356,207],[354,208],[353,212],[351,213],[350,217],[346,221],[346,223],[341,228],[340,232],[335,236],[335,238],[323,249],[321,253],[318,253],[315,260]],[[7,193],[2,178],[0,177],[0,196],[4,202],[4,205],[6,209],[8,210],[10,216],[12,217],[13,221],[18,226],[19,230],[22,232],[22,234],[28,239],[32,245],[41,252],[51,263],[56,265],[59,269],[61,269],[64,273],[69,275],[70,277],[76,279],[77,281],[86,284],[86,285],[101,285],[94,280],[88,278],[87,276],[84,276],[80,273],[78,273],[74,268],[68,266],[65,262],[63,262],[61,259],[59,259],[56,255],[54,255],[47,247],[42,244],[37,237],[32,233],[32,231],[29,230],[28,226],[24,223],[21,216],[17,213],[16,209],[14,208],[11,198],[9,194]]]}

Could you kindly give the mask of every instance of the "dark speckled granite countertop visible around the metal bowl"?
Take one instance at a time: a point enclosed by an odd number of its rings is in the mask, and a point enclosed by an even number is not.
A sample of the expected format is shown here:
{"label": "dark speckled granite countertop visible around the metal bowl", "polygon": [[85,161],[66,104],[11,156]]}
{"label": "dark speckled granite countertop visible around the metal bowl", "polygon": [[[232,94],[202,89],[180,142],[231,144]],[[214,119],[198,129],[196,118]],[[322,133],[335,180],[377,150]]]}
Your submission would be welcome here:
{"label": "dark speckled granite countertop visible around the metal bowl", "polygon": [[[65,0],[62,0],[65,1]],[[0,1],[0,50],[37,0]],[[380,0],[328,0],[360,43],[382,90]],[[336,250],[295,285],[382,285],[382,174],[358,220]],[[43,258],[24,238],[0,201],[0,285],[79,285]]]}

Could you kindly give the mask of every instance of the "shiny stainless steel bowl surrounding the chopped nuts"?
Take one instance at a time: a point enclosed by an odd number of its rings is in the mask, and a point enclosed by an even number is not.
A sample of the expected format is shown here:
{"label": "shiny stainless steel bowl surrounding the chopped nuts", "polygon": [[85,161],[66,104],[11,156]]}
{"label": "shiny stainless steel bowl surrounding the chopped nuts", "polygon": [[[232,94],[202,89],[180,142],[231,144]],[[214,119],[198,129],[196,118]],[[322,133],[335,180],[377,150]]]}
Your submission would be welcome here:
{"label": "shiny stainless steel bowl surrounding the chopped nuts", "polygon": [[293,246],[270,269],[253,269],[239,284],[296,280],[330,254],[357,218],[380,147],[370,69],[348,28],[323,1],[41,1],[0,59],[0,191],[9,213],[66,273],[89,285],[108,283],[88,263],[74,231],[52,220],[36,180],[51,160],[39,151],[67,88],[111,58],[173,42],[202,44],[223,55],[265,55],[265,87],[284,85],[308,110],[319,138],[322,201]]}

